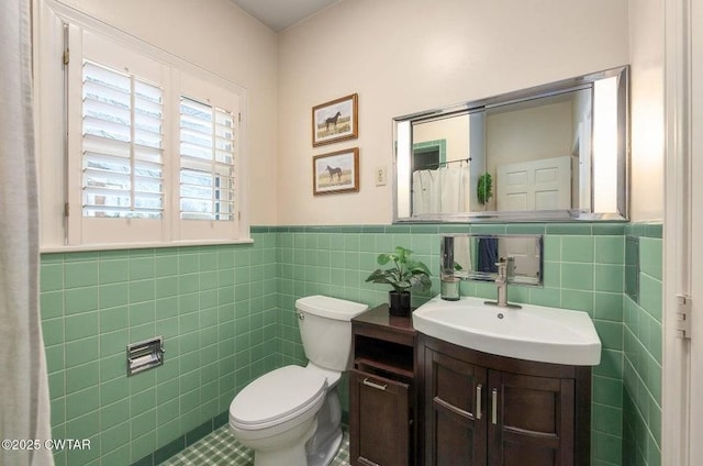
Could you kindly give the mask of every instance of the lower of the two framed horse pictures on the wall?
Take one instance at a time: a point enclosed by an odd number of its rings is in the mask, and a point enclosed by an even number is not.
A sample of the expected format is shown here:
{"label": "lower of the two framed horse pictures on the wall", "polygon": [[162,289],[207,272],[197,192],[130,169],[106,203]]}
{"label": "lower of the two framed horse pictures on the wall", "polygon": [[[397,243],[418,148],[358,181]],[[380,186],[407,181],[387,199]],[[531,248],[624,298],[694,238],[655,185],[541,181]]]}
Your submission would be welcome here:
{"label": "lower of the two framed horse pictures on the wall", "polygon": [[315,155],[312,158],[312,193],[314,196],[358,190],[358,147]]}

